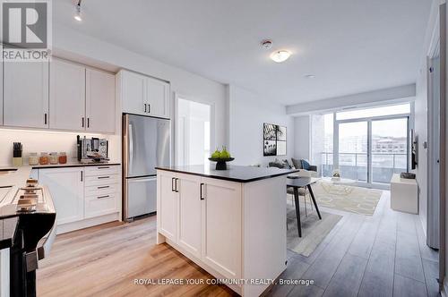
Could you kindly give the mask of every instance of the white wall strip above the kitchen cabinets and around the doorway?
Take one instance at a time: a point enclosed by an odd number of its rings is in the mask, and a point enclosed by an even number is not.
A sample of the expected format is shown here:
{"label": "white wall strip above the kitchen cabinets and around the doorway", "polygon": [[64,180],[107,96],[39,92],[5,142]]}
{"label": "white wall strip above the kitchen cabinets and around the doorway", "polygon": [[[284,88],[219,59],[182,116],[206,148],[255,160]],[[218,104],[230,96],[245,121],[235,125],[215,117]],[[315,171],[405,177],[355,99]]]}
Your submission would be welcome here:
{"label": "white wall strip above the kitchen cabinets and around the doorway", "polygon": [[[64,53],[64,55],[75,53],[85,59],[115,65],[118,68],[134,72],[142,72],[169,81],[172,91],[171,106],[174,106],[175,93],[213,105],[215,107],[214,137],[217,143],[226,144],[226,87],[220,82],[211,81],[192,72],[163,64],[123,47],[116,47],[99,39],[90,38],[60,24],[53,26],[53,34],[53,47],[56,55],[58,53]],[[171,108],[171,111],[172,118],[174,118],[174,108]]]}

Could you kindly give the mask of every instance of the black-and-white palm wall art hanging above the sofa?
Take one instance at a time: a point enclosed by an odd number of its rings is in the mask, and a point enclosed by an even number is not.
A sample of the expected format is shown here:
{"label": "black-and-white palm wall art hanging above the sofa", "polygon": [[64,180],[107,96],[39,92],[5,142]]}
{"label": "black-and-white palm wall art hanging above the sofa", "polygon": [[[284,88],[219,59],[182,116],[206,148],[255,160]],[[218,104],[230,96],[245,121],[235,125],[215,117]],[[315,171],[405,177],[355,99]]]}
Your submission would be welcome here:
{"label": "black-and-white palm wall art hanging above the sofa", "polygon": [[286,137],[286,127],[273,123],[264,123],[263,156],[285,156]]}

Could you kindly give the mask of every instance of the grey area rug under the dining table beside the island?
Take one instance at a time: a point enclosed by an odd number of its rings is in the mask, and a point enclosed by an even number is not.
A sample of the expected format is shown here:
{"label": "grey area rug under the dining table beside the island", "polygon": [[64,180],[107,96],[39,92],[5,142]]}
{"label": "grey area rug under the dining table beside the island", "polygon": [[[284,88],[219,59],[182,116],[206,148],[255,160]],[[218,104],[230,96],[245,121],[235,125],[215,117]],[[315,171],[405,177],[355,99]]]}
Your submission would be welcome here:
{"label": "grey area rug under the dining table beside the island", "polygon": [[320,220],[315,210],[309,208],[309,200],[307,208],[308,216],[305,216],[303,205],[303,199],[301,199],[300,221],[302,223],[302,237],[298,237],[296,210],[293,206],[288,206],[287,247],[297,254],[309,257],[319,243],[323,241],[325,236],[332,231],[332,228],[338,224],[342,216],[321,211],[322,220]]}

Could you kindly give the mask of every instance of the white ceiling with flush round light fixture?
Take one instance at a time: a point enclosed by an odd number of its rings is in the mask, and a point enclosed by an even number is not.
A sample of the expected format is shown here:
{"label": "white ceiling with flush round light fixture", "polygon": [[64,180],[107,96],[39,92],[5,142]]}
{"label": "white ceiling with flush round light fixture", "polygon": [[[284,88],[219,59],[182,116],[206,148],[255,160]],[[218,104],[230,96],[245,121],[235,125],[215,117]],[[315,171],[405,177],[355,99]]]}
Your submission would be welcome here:
{"label": "white ceiling with flush round light fixture", "polygon": [[415,82],[431,1],[83,0],[82,23],[53,4],[56,24],[290,105]]}

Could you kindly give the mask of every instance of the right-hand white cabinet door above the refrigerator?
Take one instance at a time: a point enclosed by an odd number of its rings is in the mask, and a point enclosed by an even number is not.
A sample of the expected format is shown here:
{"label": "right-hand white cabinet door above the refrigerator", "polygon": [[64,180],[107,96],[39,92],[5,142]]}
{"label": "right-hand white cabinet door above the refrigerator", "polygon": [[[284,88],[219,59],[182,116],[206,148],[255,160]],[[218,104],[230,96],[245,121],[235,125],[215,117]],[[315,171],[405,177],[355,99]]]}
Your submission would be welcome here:
{"label": "right-hand white cabinet door above the refrigerator", "polygon": [[169,118],[169,84],[148,78],[146,103],[151,115]]}

